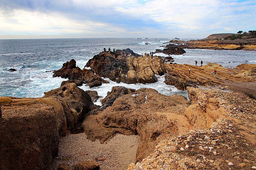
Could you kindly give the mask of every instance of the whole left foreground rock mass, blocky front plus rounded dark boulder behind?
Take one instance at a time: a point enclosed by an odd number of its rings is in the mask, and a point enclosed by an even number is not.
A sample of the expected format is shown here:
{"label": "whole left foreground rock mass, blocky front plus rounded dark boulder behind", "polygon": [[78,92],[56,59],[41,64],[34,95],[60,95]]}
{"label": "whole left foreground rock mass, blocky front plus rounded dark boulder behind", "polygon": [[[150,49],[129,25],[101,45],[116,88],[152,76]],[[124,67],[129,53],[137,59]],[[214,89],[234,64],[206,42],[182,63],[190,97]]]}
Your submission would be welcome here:
{"label": "whole left foreground rock mass, blocky front plus rounded dark boulder behind", "polygon": [[58,153],[59,138],[74,132],[93,108],[75,83],[43,98],[0,97],[0,169],[46,169]]}

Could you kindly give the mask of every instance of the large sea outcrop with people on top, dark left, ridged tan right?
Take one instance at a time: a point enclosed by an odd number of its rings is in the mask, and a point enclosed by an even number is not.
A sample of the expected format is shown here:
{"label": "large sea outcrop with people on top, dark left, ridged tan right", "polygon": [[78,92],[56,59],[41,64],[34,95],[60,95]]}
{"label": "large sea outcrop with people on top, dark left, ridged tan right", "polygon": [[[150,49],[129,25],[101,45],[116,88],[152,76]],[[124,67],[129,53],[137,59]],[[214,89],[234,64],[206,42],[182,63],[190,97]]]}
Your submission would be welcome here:
{"label": "large sea outcrop with people on top, dark left, ridged tan right", "polygon": [[155,83],[158,81],[156,75],[163,75],[165,69],[163,62],[158,57],[126,57],[118,56],[116,58],[112,53],[102,52],[90,59],[86,67],[90,67],[101,77],[107,77],[112,81],[123,82],[127,84],[135,83]]}

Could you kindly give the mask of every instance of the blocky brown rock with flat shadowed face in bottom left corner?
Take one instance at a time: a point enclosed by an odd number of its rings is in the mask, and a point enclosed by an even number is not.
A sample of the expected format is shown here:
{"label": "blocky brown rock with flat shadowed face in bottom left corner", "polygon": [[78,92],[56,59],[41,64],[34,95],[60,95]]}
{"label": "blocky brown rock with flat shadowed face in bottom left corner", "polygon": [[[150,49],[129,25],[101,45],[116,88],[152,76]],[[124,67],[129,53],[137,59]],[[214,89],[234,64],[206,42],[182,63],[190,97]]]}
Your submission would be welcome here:
{"label": "blocky brown rock with flat shadowed face in bottom left corner", "polygon": [[0,169],[49,169],[59,137],[69,134],[61,102],[1,97],[0,103],[5,105],[0,119]]}

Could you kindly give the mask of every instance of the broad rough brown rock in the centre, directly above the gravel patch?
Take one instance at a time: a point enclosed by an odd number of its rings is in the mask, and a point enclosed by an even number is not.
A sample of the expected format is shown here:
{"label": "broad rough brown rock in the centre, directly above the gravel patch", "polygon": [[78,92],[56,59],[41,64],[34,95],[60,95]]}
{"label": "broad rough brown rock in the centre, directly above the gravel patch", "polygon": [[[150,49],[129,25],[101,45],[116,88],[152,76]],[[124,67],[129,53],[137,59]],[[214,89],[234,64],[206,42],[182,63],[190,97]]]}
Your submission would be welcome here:
{"label": "broad rough brown rock in the centre, directly above the gravel patch", "polygon": [[[186,131],[184,128],[177,129],[175,123],[177,117],[185,118],[180,113],[183,113],[190,103],[186,97],[165,96],[154,89],[132,90],[125,87],[113,87],[108,96],[115,96],[116,92],[124,95],[119,95],[112,106],[97,115],[87,116],[82,123],[89,139],[104,142],[116,133],[139,134],[137,160],[141,160],[153,151],[164,134]],[[169,119],[160,113],[167,115]]]}

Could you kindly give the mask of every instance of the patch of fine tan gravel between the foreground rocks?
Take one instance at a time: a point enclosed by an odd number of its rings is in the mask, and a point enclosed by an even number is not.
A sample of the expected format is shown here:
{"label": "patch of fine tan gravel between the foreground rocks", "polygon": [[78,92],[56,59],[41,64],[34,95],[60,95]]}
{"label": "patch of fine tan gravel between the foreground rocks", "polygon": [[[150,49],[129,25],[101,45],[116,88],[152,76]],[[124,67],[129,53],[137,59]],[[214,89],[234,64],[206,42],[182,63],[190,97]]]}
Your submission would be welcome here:
{"label": "patch of fine tan gravel between the foreground rocks", "polygon": [[126,170],[135,163],[139,135],[118,134],[100,143],[90,141],[84,133],[71,134],[60,139],[58,156],[53,160],[51,170],[57,170],[59,164],[72,167],[84,160],[98,161],[101,170]]}

